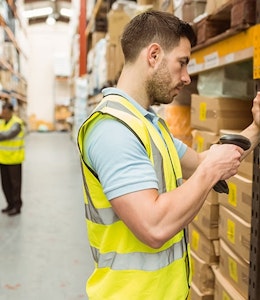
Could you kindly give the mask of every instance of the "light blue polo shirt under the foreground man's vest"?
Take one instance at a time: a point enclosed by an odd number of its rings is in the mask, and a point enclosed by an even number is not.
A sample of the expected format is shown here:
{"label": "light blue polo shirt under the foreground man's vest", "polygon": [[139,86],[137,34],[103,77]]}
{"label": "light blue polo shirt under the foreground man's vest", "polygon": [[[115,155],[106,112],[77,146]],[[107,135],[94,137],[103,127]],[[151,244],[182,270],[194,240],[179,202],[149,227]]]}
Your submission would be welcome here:
{"label": "light blue polo shirt under the foreground man's vest", "polygon": [[[104,96],[116,94],[130,101],[159,130],[158,117],[152,109],[145,110],[134,99],[117,88],[106,88]],[[179,158],[187,146],[173,138]],[[121,122],[105,119],[98,122],[84,137],[84,159],[98,174],[109,200],[144,189],[158,189],[155,170],[145,148]]]}

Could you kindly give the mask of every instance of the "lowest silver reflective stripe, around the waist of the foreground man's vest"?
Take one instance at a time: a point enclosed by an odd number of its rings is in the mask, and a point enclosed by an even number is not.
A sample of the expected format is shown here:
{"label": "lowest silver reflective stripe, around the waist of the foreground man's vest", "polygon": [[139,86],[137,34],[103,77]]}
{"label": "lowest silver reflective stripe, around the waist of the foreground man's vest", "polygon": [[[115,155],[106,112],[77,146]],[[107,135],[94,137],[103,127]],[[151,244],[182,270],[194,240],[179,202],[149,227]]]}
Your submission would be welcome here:
{"label": "lowest silver reflective stripe, around the waist of the foreground man's vest", "polygon": [[[95,253],[97,253],[97,249],[95,250]],[[156,271],[181,259],[185,252],[186,245],[183,238],[180,242],[173,244],[172,247],[158,253],[99,253],[97,264],[98,268],[110,268],[112,270]]]}

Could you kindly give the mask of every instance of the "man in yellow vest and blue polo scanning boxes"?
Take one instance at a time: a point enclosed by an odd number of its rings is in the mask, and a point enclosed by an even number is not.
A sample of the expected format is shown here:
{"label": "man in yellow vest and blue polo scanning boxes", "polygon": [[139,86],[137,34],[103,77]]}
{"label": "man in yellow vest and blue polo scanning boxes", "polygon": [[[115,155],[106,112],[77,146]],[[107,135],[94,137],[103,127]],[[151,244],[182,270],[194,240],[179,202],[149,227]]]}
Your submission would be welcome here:
{"label": "man in yellow vest and blue polo scanning boxes", "polygon": [[[125,28],[125,65],[117,88],[82,125],[88,237],[95,270],[90,300],[187,299],[190,259],[186,226],[219,180],[236,174],[248,153],[214,145],[196,153],[171,136],[153,104],[168,104],[190,83],[192,28],[172,14],[145,12]],[[254,122],[243,131],[260,138],[260,94]],[[186,179],[182,183],[182,178]]]}

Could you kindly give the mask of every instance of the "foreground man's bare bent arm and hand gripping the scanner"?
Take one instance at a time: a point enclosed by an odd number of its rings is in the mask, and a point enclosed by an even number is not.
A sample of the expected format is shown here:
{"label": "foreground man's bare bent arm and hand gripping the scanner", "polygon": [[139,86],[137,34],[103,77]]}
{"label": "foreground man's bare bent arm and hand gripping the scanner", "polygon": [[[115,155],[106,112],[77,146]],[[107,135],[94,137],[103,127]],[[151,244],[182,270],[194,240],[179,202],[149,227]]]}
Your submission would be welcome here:
{"label": "foreground man's bare bent arm and hand gripping the scanner", "polygon": [[237,172],[242,153],[234,145],[214,145],[194,174],[177,189],[163,194],[156,189],[129,193],[111,200],[111,205],[137,238],[159,248],[196,216],[219,179]]}

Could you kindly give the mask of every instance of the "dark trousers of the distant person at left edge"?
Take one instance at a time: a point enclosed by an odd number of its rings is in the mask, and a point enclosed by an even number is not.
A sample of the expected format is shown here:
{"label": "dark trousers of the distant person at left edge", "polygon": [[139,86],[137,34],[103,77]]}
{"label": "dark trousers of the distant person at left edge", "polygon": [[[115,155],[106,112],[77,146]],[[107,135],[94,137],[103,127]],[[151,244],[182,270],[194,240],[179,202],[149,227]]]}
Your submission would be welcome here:
{"label": "dark trousers of the distant person at left edge", "polygon": [[10,208],[22,206],[22,164],[3,165],[0,164],[2,189]]}

